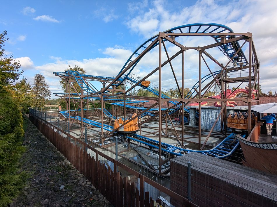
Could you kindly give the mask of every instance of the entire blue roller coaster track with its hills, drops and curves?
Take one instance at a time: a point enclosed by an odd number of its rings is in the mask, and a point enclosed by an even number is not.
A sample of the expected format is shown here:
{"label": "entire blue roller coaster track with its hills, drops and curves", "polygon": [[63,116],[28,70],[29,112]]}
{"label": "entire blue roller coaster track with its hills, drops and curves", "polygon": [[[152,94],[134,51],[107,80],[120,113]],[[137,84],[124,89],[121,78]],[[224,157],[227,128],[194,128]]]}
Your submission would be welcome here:
{"label": "entire blue roller coaster track with its hills, drops and curves", "polygon": [[[164,33],[168,33],[168,34],[173,34],[174,33],[233,33],[232,29],[221,25],[221,24],[213,24],[213,23],[197,23],[197,24],[187,24],[187,25],[182,25],[182,26],[178,26],[175,28],[171,28],[169,30],[164,31]],[[56,76],[61,76],[61,77],[68,77],[68,78],[74,78],[76,80],[76,82],[78,83],[78,85],[84,90],[84,92],[86,92],[87,94],[104,94],[107,93],[108,90],[106,91],[97,91],[97,89],[93,89],[89,83],[85,80],[85,79],[89,79],[89,80],[97,80],[97,81],[107,81],[107,82],[111,82],[107,87],[109,88],[111,85],[120,85],[123,81],[131,81],[132,83],[136,84],[138,83],[141,78],[139,78],[138,76],[135,76],[133,74],[131,74],[132,70],[134,69],[134,67],[138,64],[138,62],[141,60],[141,58],[147,53],[149,52],[151,49],[153,49],[154,47],[156,47],[158,45],[158,40],[157,40],[158,35],[153,36],[152,38],[146,40],[143,44],[141,44],[141,46],[139,46],[134,53],[132,53],[132,55],[129,57],[129,59],[126,61],[125,65],[122,67],[122,69],[120,70],[120,72],[118,73],[118,75],[115,78],[112,77],[105,77],[105,76],[92,76],[92,75],[85,75],[85,74],[80,74],[76,71],[66,71],[66,72],[54,72],[54,74]],[[212,35],[213,39],[215,40],[215,42],[220,42],[220,35]],[[233,35],[229,35],[226,36],[227,39],[231,39],[234,38],[235,36]],[[176,36],[176,38],[178,38],[178,36]],[[164,39],[164,41],[166,41],[166,39]],[[232,62],[237,63],[237,64],[242,64],[242,65],[247,65],[248,61],[246,59],[246,56],[244,55],[243,51],[238,51],[238,49],[240,48],[240,44],[238,41],[236,42],[232,42],[231,43],[227,43],[227,44],[222,44],[219,46],[220,50],[225,54],[225,56],[227,56],[229,59],[233,58]],[[236,54],[237,53],[237,54]],[[235,56],[235,57],[234,57]],[[204,81],[208,80],[209,78],[211,78],[212,76],[218,75],[221,71],[215,71],[213,73],[210,73],[204,77],[201,78],[201,83],[203,83]],[[158,88],[157,86],[150,84],[148,87],[141,85],[140,83],[138,84],[138,86],[141,86],[143,88],[145,88],[146,90],[152,92],[153,94],[158,96]],[[192,87],[192,89],[190,90],[190,93],[186,95],[185,98],[191,98],[194,93],[196,92],[195,89],[199,88],[199,82],[195,83],[195,85]],[[77,94],[78,95],[78,94]],[[78,97],[72,97],[72,98],[76,98],[78,99]],[[91,97],[88,97],[88,99],[90,99]],[[170,99],[168,96],[166,96],[165,92],[162,92],[162,98],[164,99]],[[93,97],[92,99],[100,99],[97,97]],[[119,99],[108,99],[105,98],[105,100],[114,100],[114,101],[122,101]],[[140,101],[141,102],[141,101]],[[134,108],[134,109],[139,109],[139,110],[145,110],[146,108],[144,107],[137,107],[137,106],[132,106],[132,105],[126,105],[126,103],[134,103],[134,101],[132,100],[128,100],[128,102],[125,102],[125,107],[127,108]],[[177,101],[169,101],[169,103],[175,105],[178,102]],[[118,105],[118,106],[124,106],[124,103],[122,104],[122,102],[117,102],[117,103],[113,103],[114,105]],[[178,110],[180,108],[180,105],[177,106],[175,109],[171,110],[169,113],[173,113],[176,110]],[[103,113],[105,113],[105,115],[107,115],[110,118],[115,118],[113,115],[111,115],[107,110],[102,109]],[[145,112],[144,115],[150,115],[150,116],[154,116],[151,111],[155,111],[157,109],[152,108],[150,109],[148,112]],[[164,109],[162,109],[164,110]],[[189,113],[189,109],[184,108],[184,110],[186,112]],[[98,127],[98,128],[102,128],[102,124],[90,119],[86,119],[86,118],[81,118],[79,116],[70,116],[68,111],[63,111],[60,112],[65,118],[73,118],[73,119],[77,119],[79,121],[83,121],[84,123],[90,124],[92,126]],[[109,126],[107,124],[103,124],[103,129],[106,131],[113,131],[113,127]],[[190,152],[199,152],[208,156],[214,156],[217,158],[226,158],[228,156],[230,156],[238,147],[239,142],[236,140],[236,138],[234,137],[235,134],[232,133],[229,136],[227,136],[227,138],[225,138],[224,140],[222,140],[222,142],[220,142],[220,144],[218,144],[216,147],[214,147],[213,149],[210,150],[202,150],[202,151],[198,151],[198,150],[191,150],[191,149],[183,149],[180,147],[175,147],[172,146],[170,144],[166,144],[166,143],[161,143],[162,144],[162,151],[164,151],[165,153],[169,153],[169,154],[173,154],[176,156],[180,156],[183,154],[187,154]],[[242,135],[243,137],[245,135]],[[137,135],[136,133],[132,134],[131,136],[128,136],[127,138],[129,138],[130,140],[133,140],[134,142],[138,142],[141,144],[145,144],[149,147],[153,147],[158,149],[158,141],[157,140],[153,140],[141,135]]]}

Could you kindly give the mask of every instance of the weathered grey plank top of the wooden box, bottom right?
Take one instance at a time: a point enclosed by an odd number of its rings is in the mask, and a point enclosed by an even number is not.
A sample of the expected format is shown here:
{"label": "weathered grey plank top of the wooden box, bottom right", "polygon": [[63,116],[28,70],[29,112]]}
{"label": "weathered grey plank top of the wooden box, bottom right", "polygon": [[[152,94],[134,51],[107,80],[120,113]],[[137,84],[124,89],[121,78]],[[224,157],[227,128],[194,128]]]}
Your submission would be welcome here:
{"label": "weathered grey plank top of the wooden box, bottom right", "polygon": [[[237,185],[246,190],[251,190],[253,188],[258,188],[259,190],[263,189],[262,196],[264,197],[272,197],[273,192],[274,194],[277,192],[276,175],[268,174],[250,167],[220,160],[218,158],[212,158],[200,153],[189,153],[185,156],[180,156],[171,160],[171,162],[183,165],[185,168],[187,167],[188,161],[192,162],[193,170],[216,177],[219,180],[230,181],[231,184]],[[223,175],[223,177],[218,176],[218,174]],[[237,182],[232,182],[234,180],[241,183],[241,185]],[[242,185],[242,183],[245,185]],[[248,185],[246,185],[246,183]],[[267,194],[267,191],[269,194]],[[261,194],[259,191],[257,193]],[[274,195],[274,197],[276,196]]]}

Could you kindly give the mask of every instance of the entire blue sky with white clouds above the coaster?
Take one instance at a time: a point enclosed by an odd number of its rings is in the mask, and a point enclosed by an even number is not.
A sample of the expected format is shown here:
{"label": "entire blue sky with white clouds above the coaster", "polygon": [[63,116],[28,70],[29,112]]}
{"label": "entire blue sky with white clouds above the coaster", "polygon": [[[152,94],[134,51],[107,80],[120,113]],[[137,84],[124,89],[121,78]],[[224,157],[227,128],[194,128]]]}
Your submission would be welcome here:
{"label": "entire blue sky with white clouds above the coaster", "polygon": [[[52,92],[61,91],[54,71],[79,65],[87,74],[115,76],[151,36],[199,22],[252,32],[261,63],[262,90],[277,89],[276,1],[4,1],[1,7],[0,31],[6,30],[10,38],[6,52],[20,61],[30,82],[34,74],[43,74]],[[201,46],[205,41],[186,42],[194,43]],[[142,61],[136,74],[146,74],[143,69],[155,67],[154,63],[156,60]],[[189,88],[196,81],[196,66],[187,64]]]}

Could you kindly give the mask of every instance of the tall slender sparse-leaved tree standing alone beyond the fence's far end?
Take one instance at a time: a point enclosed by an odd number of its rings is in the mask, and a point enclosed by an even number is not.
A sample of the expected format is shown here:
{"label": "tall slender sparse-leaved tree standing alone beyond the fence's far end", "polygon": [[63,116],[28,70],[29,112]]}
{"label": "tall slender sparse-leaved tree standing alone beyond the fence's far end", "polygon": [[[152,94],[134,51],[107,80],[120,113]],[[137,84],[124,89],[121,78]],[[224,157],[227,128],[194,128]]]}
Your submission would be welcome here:
{"label": "tall slender sparse-leaved tree standing alone beyond the fence's far end", "polygon": [[46,100],[51,97],[49,86],[47,85],[45,78],[40,73],[34,76],[33,93],[35,97],[35,107],[43,107]]}

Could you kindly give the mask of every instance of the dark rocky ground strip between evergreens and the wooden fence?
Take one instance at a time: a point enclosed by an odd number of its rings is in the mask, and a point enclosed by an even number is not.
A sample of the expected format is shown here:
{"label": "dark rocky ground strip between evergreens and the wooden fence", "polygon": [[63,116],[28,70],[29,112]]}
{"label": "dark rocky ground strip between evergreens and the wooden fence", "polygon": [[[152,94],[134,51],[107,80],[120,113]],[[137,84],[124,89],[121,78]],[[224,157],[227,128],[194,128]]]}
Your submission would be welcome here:
{"label": "dark rocky ground strip between evergreens and the wooden fence", "polygon": [[29,121],[22,157],[28,186],[10,206],[112,206]]}

